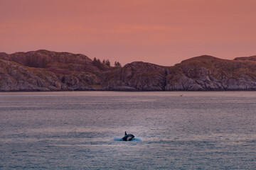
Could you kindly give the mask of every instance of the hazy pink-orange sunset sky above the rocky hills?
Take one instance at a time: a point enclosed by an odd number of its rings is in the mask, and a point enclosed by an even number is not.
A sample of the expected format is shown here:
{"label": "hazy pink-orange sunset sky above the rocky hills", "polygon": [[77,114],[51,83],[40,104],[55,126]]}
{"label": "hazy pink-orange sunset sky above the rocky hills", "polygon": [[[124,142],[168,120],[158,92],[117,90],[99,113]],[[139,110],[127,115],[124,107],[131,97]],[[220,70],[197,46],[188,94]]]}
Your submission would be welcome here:
{"label": "hazy pink-orange sunset sky above the rocky hills", "polygon": [[53,50],[171,66],[256,55],[255,0],[0,0],[0,52]]}

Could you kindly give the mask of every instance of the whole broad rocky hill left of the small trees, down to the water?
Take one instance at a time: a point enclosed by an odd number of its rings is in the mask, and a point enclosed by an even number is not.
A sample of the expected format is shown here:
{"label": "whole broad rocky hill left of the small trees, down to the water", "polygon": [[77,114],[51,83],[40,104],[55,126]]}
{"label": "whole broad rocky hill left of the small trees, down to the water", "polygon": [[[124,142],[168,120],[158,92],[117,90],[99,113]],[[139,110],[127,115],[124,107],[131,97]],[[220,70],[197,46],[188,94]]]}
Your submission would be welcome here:
{"label": "whole broad rocky hill left of the small trees, down to the water", "polygon": [[[93,90],[94,86],[100,85],[99,75],[102,70],[95,67],[85,55],[48,50],[16,52],[11,55],[1,52],[0,60],[1,91]],[[106,65],[104,67],[110,69]],[[6,68],[9,68],[9,72],[6,72]],[[40,79],[35,77],[39,73]],[[24,77],[23,74],[28,76]],[[53,88],[57,80],[58,88]]]}

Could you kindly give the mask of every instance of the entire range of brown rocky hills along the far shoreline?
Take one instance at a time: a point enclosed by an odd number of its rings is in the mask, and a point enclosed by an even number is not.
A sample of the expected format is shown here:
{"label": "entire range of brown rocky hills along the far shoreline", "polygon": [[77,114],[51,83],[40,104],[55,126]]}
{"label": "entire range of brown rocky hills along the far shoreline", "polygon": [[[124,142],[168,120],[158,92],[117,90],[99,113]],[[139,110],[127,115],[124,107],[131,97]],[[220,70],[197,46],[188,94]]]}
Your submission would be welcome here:
{"label": "entire range of brown rocky hills along the far shoreline", "polygon": [[85,55],[38,50],[0,53],[0,91],[256,90],[256,56],[203,55],[173,67],[132,62],[110,67]]}

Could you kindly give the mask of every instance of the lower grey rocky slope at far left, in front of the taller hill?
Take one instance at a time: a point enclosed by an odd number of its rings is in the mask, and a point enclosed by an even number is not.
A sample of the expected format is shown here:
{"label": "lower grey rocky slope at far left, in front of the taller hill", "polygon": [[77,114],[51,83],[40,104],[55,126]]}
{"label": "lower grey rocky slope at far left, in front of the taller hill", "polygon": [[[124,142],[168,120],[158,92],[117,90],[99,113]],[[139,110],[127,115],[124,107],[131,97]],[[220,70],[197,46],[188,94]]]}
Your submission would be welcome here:
{"label": "lower grey rocky slope at far left, in front of the taller hill", "polygon": [[0,91],[59,91],[65,89],[52,72],[0,60]]}

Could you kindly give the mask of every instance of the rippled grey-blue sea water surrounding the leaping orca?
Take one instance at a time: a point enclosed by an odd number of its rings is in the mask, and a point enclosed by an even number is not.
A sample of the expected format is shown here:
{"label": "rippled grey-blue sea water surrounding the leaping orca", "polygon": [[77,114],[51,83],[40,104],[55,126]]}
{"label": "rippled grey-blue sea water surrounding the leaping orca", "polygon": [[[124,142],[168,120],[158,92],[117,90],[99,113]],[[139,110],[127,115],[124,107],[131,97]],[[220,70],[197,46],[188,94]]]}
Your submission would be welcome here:
{"label": "rippled grey-blue sea water surrounding the leaping orca", "polygon": [[0,169],[256,169],[255,108],[254,91],[0,93]]}

